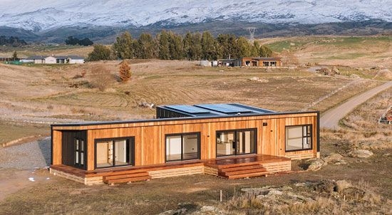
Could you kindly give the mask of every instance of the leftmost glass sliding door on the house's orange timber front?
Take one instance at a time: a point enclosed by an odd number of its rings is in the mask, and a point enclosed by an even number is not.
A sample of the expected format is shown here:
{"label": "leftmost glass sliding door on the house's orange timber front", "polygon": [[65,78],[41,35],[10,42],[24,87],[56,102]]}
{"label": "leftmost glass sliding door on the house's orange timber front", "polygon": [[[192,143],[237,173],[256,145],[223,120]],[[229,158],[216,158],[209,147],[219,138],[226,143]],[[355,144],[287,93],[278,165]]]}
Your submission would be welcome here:
{"label": "leftmost glass sliding door on the house's orange timber front", "polygon": [[96,140],[96,168],[134,164],[135,137]]}

